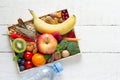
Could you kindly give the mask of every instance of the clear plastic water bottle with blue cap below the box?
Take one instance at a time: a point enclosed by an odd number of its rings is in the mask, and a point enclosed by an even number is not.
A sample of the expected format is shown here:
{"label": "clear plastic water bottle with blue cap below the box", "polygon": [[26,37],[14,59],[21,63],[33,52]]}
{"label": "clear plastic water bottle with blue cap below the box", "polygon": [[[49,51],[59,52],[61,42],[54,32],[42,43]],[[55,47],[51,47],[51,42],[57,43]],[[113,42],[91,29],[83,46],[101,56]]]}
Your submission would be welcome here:
{"label": "clear plastic water bottle with blue cap below the box", "polygon": [[43,66],[25,74],[20,80],[53,80],[55,75],[63,70],[60,63]]}

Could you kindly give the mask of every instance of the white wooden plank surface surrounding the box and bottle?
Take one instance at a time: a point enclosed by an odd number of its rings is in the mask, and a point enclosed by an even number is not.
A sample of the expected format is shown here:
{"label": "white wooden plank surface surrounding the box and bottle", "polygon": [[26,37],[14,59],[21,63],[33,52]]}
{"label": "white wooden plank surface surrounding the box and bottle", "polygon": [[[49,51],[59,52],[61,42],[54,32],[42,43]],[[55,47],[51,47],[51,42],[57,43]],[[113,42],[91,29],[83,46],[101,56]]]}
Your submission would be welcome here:
{"label": "white wooden plank surface surrounding the box and bottle", "polygon": [[0,80],[19,80],[7,33],[8,25],[21,17],[67,8],[77,17],[75,26],[81,54],[61,61],[59,80],[120,80],[119,0],[0,0]]}

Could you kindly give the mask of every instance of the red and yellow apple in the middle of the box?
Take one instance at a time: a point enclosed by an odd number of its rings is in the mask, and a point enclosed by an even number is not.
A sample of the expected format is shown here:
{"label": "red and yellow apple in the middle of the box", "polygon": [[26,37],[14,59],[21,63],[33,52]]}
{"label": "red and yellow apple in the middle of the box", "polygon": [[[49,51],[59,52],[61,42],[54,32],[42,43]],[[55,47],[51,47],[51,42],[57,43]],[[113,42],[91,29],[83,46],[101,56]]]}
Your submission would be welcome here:
{"label": "red and yellow apple in the middle of the box", "polygon": [[37,39],[38,50],[43,54],[52,54],[56,50],[57,40],[52,34],[42,34]]}

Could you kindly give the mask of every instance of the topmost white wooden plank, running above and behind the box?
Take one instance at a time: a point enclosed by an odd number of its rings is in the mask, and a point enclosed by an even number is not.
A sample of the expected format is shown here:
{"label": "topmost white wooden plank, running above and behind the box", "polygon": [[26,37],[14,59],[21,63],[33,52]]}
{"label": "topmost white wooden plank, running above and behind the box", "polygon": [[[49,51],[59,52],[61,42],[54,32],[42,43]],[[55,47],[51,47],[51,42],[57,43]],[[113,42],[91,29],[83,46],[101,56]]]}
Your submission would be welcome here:
{"label": "topmost white wooden plank, running above and behind the box", "polygon": [[77,25],[120,25],[119,0],[0,0],[0,24],[30,19],[28,9],[38,15],[67,8],[77,17]]}

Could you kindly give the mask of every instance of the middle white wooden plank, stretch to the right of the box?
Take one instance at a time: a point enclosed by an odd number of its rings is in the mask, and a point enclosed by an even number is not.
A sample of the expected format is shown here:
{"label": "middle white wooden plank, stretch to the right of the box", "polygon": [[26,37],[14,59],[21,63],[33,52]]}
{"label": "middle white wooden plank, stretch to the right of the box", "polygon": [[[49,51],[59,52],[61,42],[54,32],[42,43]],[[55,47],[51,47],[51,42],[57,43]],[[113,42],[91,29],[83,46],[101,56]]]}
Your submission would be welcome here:
{"label": "middle white wooden plank, stretch to the right of the box", "polygon": [[81,52],[120,53],[119,26],[77,26]]}

